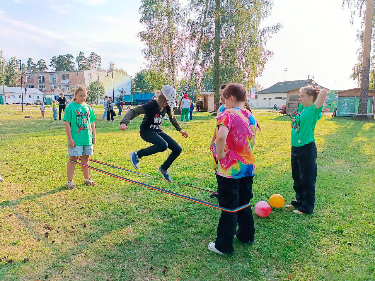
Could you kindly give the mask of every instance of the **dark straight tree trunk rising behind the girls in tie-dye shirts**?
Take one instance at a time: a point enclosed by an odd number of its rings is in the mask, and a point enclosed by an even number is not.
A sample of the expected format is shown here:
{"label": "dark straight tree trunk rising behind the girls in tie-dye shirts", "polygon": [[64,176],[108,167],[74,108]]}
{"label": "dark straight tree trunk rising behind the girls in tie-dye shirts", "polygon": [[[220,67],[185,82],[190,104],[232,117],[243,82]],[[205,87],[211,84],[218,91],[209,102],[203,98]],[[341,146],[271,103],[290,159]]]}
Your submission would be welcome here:
{"label": "dark straight tree trunk rising behind the girls in tie-dye shirts", "polygon": [[220,0],[215,0],[215,38],[213,41],[213,51],[214,111],[217,111],[220,99]]}

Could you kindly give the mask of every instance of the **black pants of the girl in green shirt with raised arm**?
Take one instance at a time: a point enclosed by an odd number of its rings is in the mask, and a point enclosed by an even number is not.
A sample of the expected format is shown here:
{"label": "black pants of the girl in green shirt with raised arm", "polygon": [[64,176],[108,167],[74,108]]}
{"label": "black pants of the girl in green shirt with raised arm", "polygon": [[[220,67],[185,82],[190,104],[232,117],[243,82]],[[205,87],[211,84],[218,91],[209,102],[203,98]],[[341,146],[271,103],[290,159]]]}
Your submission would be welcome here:
{"label": "black pants of the girl in green shirt with raised arm", "polygon": [[301,212],[311,214],[315,205],[315,182],[317,181],[317,146],[311,142],[304,146],[292,146],[292,178],[296,191],[296,206]]}

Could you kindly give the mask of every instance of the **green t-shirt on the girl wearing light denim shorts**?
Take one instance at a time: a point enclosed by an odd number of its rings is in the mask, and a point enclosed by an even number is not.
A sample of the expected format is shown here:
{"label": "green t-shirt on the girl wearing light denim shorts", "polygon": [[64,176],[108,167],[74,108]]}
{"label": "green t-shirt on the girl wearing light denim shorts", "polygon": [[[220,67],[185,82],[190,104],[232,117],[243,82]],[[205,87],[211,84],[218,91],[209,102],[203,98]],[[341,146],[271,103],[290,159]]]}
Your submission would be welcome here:
{"label": "green t-shirt on the girl wearing light denim shorts", "polygon": [[64,121],[71,123],[72,139],[75,146],[92,145],[92,123],[96,120],[94,111],[87,104],[69,103],[65,108]]}

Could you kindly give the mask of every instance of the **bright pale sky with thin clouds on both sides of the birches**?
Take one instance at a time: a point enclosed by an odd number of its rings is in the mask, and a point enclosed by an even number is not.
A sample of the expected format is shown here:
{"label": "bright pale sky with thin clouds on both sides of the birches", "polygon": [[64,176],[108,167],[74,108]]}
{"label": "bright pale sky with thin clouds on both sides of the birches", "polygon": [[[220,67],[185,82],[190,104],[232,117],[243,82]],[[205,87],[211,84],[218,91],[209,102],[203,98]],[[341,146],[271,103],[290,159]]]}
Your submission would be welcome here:
{"label": "bright pale sky with thin clouds on both sides of the birches", "polygon": [[[267,42],[274,52],[258,84],[264,88],[284,80],[307,79],[331,90],[357,87],[349,78],[357,62],[359,19],[350,23],[342,0],[275,0],[264,26],[281,23],[283,28]],[[0,0],[0,48],[6,58],[23,63],[54,55],[96,52],[102,67],[110,61],[130,75],[144,68],[137,37],[139,0]],[[312,77],[312,76],[311,76]]]}

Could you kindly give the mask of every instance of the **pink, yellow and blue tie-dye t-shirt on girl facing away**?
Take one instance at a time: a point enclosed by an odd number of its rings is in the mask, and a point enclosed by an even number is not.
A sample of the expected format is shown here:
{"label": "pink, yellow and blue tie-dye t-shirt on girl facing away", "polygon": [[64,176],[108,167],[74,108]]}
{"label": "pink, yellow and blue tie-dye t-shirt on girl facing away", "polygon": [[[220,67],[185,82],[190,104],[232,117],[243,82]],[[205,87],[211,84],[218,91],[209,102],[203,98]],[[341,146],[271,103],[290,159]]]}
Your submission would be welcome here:
{"label": "pink, yellow and blue tie-dye t-shirt on girl facing away", "polygon": [[219,160],[217,175],[226,178],[243,178],[255,173],[255,157],[253,141],[257,129],[257,121],[246,109],[226,109],[219,117],[218,128],[223,125],[229,133],[225,142],[225,151],[229,153]]}

